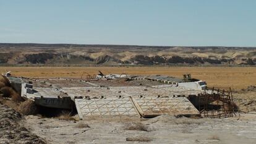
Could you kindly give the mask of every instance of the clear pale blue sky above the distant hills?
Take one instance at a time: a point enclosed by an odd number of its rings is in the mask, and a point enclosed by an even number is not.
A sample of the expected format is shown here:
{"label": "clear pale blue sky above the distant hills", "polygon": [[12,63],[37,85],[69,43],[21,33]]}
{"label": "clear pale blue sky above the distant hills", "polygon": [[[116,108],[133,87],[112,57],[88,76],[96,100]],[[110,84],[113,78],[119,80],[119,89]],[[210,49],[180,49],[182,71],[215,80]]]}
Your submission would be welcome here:
{"label": "clear pale blue sky above the distant hills", "polygon": [[1,0],[0,43],[256,46],[256,1]]}

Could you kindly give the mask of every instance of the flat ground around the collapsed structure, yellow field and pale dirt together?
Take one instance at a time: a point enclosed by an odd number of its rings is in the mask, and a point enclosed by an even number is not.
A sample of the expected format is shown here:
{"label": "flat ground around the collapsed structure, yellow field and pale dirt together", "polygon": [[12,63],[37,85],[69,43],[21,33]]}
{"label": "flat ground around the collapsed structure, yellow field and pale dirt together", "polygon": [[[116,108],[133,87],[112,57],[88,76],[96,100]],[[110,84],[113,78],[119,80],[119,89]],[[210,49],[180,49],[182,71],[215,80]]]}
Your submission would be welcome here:
{"label": "flat ground around the collapsed structure, yellow field and pale dirt together", "polygon": [[233,98],[239,110],[235,117],[221,119],[163,115],[153,119],[65,121],[40,114],[21,117],[1,106],[1,116],[6,117],[0,122],[5,125],[0,131],[2,143],[255,143],[256,88],[247,87],[256,85],[256,67],[0,67],[0,73],[6,70],[22,77],[81,77],[83,72],[98,74],[98,70],[104,74],[161,74],[180,78],[182,74],[192,74],[207,81],[209,87],[235,89]]}

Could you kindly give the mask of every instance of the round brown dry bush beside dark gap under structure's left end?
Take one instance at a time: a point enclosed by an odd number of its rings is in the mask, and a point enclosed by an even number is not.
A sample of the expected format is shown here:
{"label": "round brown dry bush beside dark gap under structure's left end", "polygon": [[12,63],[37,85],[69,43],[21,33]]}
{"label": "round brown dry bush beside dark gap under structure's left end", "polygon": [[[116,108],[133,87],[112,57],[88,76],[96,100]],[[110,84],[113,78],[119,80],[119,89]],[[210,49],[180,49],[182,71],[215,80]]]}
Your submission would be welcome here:
{"label": "round brown dry bush beside dark gap under structure's left end", "polygon": [[37,114],[38,108],[36,107],[36,104],[34,101],[26,100],[20,103],[19,107],[17,108],[17,111],[23,115],[30,115],[30,114]]}

